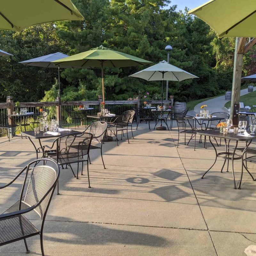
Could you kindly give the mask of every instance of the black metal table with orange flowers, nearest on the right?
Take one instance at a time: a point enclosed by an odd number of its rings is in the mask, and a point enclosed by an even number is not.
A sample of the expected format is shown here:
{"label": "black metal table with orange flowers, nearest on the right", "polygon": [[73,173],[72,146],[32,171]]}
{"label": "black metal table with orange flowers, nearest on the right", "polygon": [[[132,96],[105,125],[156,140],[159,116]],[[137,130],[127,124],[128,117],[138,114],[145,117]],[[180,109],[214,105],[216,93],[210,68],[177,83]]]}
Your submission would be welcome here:
{"label": "black metal table with orange flowers, nearest on the right", "polygon": [[[217,161],[217,157],[221,157],[221,158],[224,159],[224,164],[221,168],[221,172],[223,170],[223,167],[224,167],[226,161],[228,160],[228,162],[229,162],[229,160],[232,160],[232,174],[233,174],[233,179],[234,179],[234,188],[236,189],[236,180],[235,180],[235,174],[234,174],[234,160],[242,159],[242,155],[236,154],[236,148],[237,148],[237,145],[238,145],[238,141],[246,142],[246,146],[244,148],[244,150],[245,150],[251,144],[252,140],[256,139],[256,136],[246,137],[246,136],[240,136],[240,135],[235,134],[235,133],[228,133],[228,134],[224,135],[223,133],[220,133],[219,129],[200,131],[200,132],[197,132],[197,134],[209,137],[210,143],[212,144],[212,147],[214,148],[214,151],[215,151],[215,161],[212,164],[212,166],[204,173],[204,175],[212,169],[212,167],[214,166],[214,164]],[[212,143],[211,137],[224,139],[226,151],[217,153],[217,150],[214,147],[214,144]],[[228,140],[228,145],[227,145],[227,140]],[[233,149],[233,153],[229,152],[229,143],[230,143],[230,141],[236,141],[236,146]],[[204,175],[201,177],[202,179],[204,179]],[[241,187],[241,181],[242,181],[242,175],[241,175],[241,179],[240,179],[238,189],[240,189],[240,187]]]}

